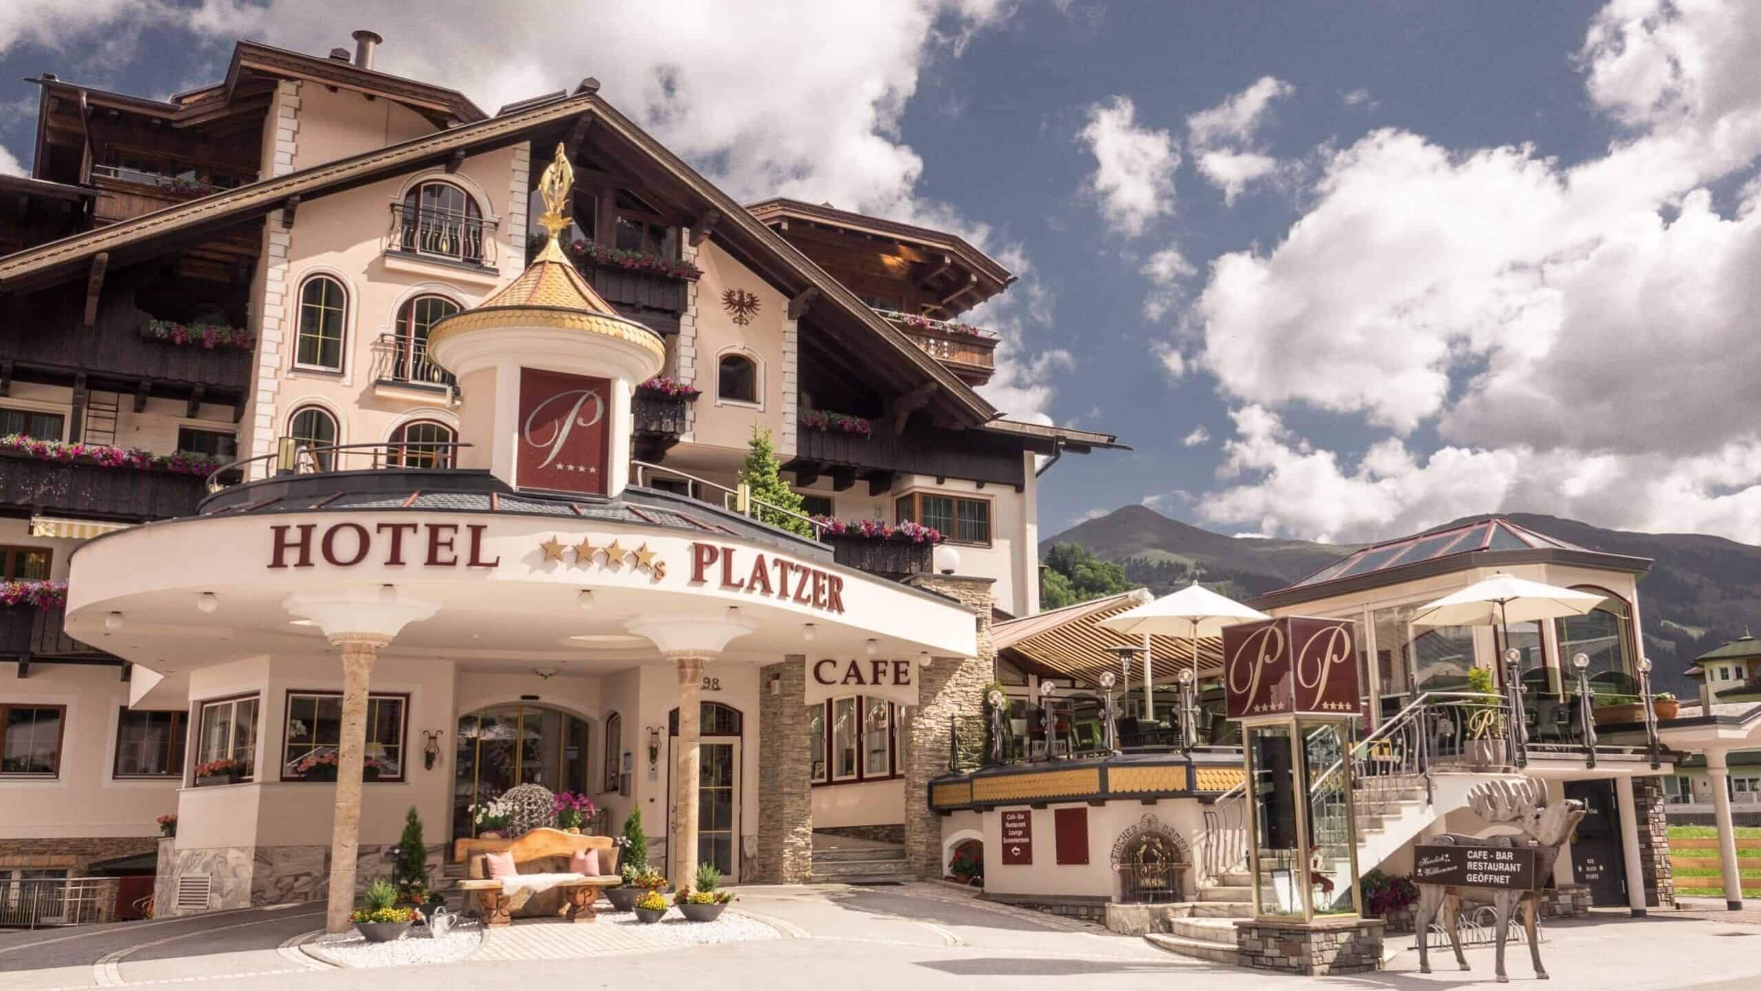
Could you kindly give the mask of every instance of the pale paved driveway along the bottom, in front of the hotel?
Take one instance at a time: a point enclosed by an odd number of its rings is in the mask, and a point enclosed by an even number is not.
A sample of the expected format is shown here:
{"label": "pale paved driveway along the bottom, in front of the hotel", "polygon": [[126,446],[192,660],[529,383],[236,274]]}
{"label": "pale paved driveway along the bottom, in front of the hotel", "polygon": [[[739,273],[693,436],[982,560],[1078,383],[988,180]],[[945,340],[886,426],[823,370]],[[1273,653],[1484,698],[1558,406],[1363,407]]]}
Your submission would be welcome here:
{"label": "pale paved driveway along the bottom, in front of the hotel", "polygon": [[[322,907],[227,912],[199,919],[129,922],[88,929],[0,935],[0,989],[141,987],[217,984],[264,989],[438,991],[541,987],[711,986],[717,991],[926,991],[1023,986],[1157,989],[1203,982],[1206,991],[1315,987],[1278,977],[1164,954],[1143,940],[1035,912],[970,901],[939,885],[752,887],[738,910],[784,938],[674,949],[660,954],[583,958],[581,963],[468,959],[398,972],[329,970],[292,947],[322,924]],[[491,936],[493,938],[493,936]],[[1548,991],[1736,991],[1761,987],[1761,926],[1724,919],[1599,915],[1555,924],[1543,954]],[[1444,956],[1419,975],[1411,936],[1389,970],[1328,979],[1333,987],[1402,991],[1492,989],[1492,951],[1469,951],[1472,973]],[[500,954],[497,954],[500,956]],[[1529,954],[1511,947],[1513,982],[1529,982]]]}

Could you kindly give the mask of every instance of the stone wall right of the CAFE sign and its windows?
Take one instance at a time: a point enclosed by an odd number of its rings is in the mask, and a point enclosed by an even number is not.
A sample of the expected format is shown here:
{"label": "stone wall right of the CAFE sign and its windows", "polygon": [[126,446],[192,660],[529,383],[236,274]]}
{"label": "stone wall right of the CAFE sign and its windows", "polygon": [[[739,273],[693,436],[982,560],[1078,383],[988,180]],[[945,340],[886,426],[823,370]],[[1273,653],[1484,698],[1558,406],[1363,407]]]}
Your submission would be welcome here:
{"label": "stone wall right of the CAFE sign and its windows", "polygon": [[954,723],[984,713],[984,686],[997,678],[991,646],[991,579],[919,574],[907,584],[958,600],[977,623],[977,657],[935,658],[917,671],[917,706],[905,718],[905,861],[926,878],[942,877],[942,817],[930,808],[930,778],[947,773]]}

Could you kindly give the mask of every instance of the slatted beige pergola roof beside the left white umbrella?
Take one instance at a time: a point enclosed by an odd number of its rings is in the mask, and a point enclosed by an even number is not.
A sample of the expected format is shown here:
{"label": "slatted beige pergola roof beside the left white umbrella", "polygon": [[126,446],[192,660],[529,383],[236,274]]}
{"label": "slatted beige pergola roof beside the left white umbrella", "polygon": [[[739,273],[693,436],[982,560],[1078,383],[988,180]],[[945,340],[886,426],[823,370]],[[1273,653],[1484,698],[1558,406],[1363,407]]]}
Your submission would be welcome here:
{"label": "slatted beige pergola roof beside the left white umbrella", "polygon": [[[1072,678],[1095,688],[1101,674],[1120,672],[1118,653],[1113,648],[1143,646],[1143,637],[1129,637],[1101,628],[1101,620],[1118,616],[1150,600],[1146,590],[1127,591],[1092,602],[1079,602],[1037,616],[1009,620],[991,627],[997,655],[1025,672],[1041,678]],[[1199,674],[1222,669],[1222,639],[1199,639]],[[1150,672],[1157,683],[1171,683],[1180,671],[1192,665],[1192,641],[1183,637],[1150,637]],[[1131,664],[1131,683],[1143,679],[1143,658]]]}

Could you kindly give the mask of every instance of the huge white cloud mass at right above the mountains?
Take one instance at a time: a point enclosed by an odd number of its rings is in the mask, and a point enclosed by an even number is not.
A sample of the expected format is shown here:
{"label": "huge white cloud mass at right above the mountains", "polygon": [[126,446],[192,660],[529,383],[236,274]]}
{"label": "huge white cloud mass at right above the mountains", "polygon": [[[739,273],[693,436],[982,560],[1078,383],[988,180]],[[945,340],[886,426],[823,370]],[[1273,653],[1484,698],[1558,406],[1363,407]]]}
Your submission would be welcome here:
{"label": "huge white cloud mass at right above the mountains", "polygon": [[[1194,303],[1236,412],[1231,486],[1201,516],[1370,539],[1527,509],[1761,542],[1752,347],[1761,5],[1617,0],[1580,51],[1597,107],[1632,130],[1560,164],[1377,130],[1323,151],[1312,208],[1270,252],[1217,259]],[[1407,435],[1358,458],[1275,410]]]}

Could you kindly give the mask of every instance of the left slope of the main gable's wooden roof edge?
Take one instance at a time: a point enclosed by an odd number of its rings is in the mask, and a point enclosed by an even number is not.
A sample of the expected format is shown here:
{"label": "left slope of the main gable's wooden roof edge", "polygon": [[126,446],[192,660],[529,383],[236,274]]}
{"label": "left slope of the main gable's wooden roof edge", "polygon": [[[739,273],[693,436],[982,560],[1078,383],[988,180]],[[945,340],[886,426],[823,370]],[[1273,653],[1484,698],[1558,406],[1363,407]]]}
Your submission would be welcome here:
{"label": "left slope of the main gable's wooden roof edge", "polygon": [[289,197],[315,199],[375,183],[389,176],[446,162],[456,151],[483,153],[534,139],[560,121],[593,109],[592,97],[572,97],[518,114],[428,134],[387,148],[338,158],[287,176],[261,180],[234,190],[155,209],[132,220],[49,241],[0,259],[0,292],[19,292],[85,278],[97,255],[125,266],[162,255],[167,248],[199,241],[218,231],[259,218]]}

